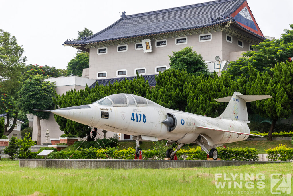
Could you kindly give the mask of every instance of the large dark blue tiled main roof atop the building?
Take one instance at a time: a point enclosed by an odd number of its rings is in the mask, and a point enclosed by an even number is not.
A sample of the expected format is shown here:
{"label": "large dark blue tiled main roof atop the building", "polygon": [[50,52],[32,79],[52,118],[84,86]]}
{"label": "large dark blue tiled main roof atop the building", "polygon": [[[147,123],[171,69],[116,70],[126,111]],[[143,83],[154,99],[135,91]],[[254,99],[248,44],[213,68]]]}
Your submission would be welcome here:
{"label": "large dark blue tiled main roof atop the building", "polygon": [[[86,40],[65,41],[64,44],[86,45],[89,43],[213,26],[230,21],[231,14],[244,1],[218,0],[122,16],[114,24],[87,37]],[[259,38],[263,38],[248,29],[245,30]]]}

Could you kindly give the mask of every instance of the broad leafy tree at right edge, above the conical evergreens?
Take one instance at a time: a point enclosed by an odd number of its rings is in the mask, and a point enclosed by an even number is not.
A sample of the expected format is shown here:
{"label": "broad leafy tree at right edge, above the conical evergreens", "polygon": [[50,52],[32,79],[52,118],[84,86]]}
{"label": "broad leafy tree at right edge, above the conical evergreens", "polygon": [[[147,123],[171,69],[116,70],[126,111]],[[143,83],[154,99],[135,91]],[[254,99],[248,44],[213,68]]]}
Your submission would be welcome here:
{"label": "broad leafy tree at right edge, above the conical evergreens", "polygon": [[252,65],[257,71],[268,71],[272,74],[271,69],[278,62],[286,62],[288,58],[293,56],[293,24],[290,24],[290,30],[285,29],[280,39],[268,40],[252,46],[254,51],[246,51],[242,53],[242,58],[229,63],[227,72],[232,78],[239,78],[244,74],[247,78],[248,66]]}

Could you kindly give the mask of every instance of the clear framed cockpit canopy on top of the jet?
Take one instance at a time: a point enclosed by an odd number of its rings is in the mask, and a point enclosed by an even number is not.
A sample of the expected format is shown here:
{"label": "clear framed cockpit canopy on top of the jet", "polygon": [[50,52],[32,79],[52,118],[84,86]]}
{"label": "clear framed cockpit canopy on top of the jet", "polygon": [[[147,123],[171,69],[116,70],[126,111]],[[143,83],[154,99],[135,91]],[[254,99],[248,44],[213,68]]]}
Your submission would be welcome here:
{"label": "clear framed cockpit canopy on top of the jet", "polygon": [[108,106],[114,106],[114,107],[147,106],[148,104],[154,104],[154,102],[144,97],[132,95],[132,94],[126,94],[126,93],[109,95],[107,97],[97,100],[94,103],[98,103],[99,105],[105,105],[105,106],[108,105]]}

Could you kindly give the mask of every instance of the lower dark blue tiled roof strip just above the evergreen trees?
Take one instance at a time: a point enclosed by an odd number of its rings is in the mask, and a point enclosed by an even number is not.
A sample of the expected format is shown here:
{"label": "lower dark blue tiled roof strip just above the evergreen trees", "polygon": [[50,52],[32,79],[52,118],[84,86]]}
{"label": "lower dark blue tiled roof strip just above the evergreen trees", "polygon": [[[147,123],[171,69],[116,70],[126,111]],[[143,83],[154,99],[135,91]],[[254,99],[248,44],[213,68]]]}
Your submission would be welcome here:
{"label": "lower dark blue tiled roof strip just above the evergreen trees", "polygon": [[[147,76],[143,76],[144,79],[146,81],[148,81],[149,86],[156,86],[156,76],[158,76],[158,74],[154,74],[154,75],[147,75]],[[131,77],[126,77],[127,80],[132,81],[134,78],[137,78],[137,76],[131,76]],[[122,80],[125,80],[125,78],[107,78],[107,79],[100,79],[97,80],[96,82],[94,82],[90,88],[94,88],[96,86],[96,83],[98,83],[99,85],[108,85],[109,82],[111,84],[117,82],[121,82]]]}

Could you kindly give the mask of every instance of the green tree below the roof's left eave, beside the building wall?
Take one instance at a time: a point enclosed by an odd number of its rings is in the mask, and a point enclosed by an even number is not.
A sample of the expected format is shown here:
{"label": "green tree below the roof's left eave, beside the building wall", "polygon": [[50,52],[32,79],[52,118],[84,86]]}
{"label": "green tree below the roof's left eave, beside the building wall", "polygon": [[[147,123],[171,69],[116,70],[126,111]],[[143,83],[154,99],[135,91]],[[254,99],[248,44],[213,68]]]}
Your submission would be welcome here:
{"label": "green tree below the roof's left eave, beside the building wall", "polygon": [[81,52],[68,62],[67,75],[82,76],[82,70],[89,67],[89,54],[88,52]]}

